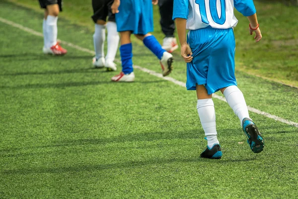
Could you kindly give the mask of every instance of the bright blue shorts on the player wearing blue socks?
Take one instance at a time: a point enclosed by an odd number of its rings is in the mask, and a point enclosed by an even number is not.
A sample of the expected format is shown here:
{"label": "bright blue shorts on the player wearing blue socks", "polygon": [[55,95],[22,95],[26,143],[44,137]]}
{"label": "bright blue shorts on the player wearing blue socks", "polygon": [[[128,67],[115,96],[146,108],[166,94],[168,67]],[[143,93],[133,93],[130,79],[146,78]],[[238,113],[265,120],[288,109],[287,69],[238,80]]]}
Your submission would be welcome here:
{"label": "bright blue shorts on the player wearing blue socks", "polygon": [[147,34],[153,31],[152,0],[121,0],[116,13],[117,31]]}

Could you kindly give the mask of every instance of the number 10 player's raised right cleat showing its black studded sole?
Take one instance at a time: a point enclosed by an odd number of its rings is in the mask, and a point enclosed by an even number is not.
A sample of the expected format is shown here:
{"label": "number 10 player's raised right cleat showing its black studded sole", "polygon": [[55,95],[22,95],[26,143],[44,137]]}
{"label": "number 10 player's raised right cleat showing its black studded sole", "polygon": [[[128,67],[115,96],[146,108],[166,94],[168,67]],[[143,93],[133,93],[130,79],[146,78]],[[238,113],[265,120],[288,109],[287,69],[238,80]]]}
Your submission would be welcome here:
{"label": "number 10 player's raised right cleat showing its black studded sole", "polygon": [[262,152],[265,142],[256,124],[251,119],[244,118],[242,121],[242,129],[247,137],[247,143],[252,152]]}

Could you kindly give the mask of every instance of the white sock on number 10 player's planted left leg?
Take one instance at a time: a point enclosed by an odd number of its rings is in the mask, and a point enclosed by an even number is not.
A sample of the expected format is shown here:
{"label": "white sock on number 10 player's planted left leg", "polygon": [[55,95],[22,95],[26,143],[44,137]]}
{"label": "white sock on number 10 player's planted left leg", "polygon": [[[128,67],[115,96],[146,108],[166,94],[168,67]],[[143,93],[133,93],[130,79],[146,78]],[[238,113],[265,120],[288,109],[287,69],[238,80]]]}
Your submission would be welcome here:
{"label": "white sock on number 10 player's planted left leg", "polygon": [[219,144],[217,139],[215,109],[212,99],[198,100],[197,110],[201,120],[202,127],[205,131],[208,147],[212,148],[213,145]]}

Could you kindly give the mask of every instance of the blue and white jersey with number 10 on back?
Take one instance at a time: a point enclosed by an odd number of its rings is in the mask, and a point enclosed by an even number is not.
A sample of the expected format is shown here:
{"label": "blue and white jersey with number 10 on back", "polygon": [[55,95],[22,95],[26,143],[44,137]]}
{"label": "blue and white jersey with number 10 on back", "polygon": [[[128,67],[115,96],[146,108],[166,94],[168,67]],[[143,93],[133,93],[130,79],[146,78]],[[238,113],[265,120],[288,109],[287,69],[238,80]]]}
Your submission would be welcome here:
{"label": "blue and white jersey with number 10 on back", "polygon": [[256,13],[253,0],[174,0],[173,20],[185,18],[186,29],[227,29],[238,23],[234,6],[244,16]]}

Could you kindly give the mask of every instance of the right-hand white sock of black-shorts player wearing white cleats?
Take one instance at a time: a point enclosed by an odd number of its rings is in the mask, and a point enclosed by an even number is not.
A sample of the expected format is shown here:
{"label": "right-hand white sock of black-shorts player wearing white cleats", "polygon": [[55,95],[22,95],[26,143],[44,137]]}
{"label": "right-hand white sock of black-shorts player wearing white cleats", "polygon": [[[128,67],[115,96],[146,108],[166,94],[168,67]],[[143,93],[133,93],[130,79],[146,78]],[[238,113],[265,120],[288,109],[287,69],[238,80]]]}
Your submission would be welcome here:
{"label": "right-hand white sock of black-shorts player wearing white cleats", "polygon": [[118,50],[120,37],[117,32],[117,25],[115,22],[107,22],[106,27],[108,30],[108,52],[106,55],[106,60],[114,61]]}

